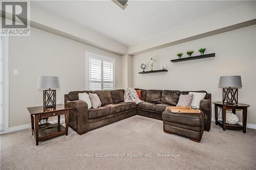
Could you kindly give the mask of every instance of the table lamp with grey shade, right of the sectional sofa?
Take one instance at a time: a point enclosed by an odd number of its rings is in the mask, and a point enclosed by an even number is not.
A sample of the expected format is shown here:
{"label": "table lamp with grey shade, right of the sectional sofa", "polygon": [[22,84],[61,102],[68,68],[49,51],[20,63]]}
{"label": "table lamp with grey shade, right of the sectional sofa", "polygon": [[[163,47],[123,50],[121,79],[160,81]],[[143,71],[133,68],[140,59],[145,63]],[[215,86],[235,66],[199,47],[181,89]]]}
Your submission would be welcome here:
{"label": "table lamp with grey shade, right of the sectional sofa", "polygon": [[238,89],[242,88],[241,76],[221,76],[219,88],[222,88],[224,104],[238,105]]}

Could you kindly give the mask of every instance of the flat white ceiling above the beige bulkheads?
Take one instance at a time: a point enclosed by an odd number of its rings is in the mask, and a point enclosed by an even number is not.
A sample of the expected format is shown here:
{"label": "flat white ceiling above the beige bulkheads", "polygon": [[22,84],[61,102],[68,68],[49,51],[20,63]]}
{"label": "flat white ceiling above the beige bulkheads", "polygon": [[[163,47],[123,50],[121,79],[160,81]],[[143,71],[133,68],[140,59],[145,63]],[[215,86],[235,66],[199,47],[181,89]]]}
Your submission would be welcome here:
{"label": "flat white ceiling above the beige bulkheads", "polygon": [[245,1],[34,1],[124,45],[133,45],[180,26],[243,5]]}

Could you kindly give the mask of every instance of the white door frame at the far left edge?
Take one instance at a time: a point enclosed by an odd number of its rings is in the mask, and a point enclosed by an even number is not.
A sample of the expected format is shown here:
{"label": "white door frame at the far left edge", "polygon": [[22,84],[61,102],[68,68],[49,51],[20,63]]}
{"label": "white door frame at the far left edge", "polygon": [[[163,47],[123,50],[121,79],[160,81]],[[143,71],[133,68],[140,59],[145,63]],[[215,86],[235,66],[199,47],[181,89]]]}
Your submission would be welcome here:
{"label": "white door frame at the far left edge", "polygon": [[[0,34],[1,35],[1,34]],[[3,113],[1,118],[3,123],[3,131],[1,134],[9,132],[9,37],[1,36],[2,49],[1,49],[1,59],[3,60]]]}

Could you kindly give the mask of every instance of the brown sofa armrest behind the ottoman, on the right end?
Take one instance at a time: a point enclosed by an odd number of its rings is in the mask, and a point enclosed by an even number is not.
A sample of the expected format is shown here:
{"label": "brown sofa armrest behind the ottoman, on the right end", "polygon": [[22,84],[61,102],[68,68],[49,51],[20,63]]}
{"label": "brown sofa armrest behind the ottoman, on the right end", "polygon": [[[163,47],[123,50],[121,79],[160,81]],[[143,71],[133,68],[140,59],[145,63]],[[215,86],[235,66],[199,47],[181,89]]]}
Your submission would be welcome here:
{"label": "brown sofa armrest behind the ottoman, on the right end", "polygon": [[211,125],[211,100],[203,99],[200,101],[200,110],[204,113],[204,129],[210,130]]}

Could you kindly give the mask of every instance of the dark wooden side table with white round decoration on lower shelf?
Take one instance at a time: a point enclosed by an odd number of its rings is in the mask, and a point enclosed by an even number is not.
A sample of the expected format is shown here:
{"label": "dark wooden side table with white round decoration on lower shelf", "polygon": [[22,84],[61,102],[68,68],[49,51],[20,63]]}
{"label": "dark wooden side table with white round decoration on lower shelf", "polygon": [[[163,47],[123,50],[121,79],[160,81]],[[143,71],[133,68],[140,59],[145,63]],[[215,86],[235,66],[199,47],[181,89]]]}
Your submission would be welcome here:
{"label": "dark wooden side table with white round decoration on lower shelf", "polygon": [[[215,104],[215,124],[220,125],[223,130],[226,129],[235,129],[243,130],[243,133],[246,133],[246,121],[247,121],[247,108],[250,105],[239,103],[238,105],[227,105],[223,102],[212,102]],[[222,121],[218,120],[218,107],[222,108]],[[243,126],[240,124],[230,125],[226,124],[226,109],[232,109],[232,113],[236,114],[236,110],[243,110]]]}

